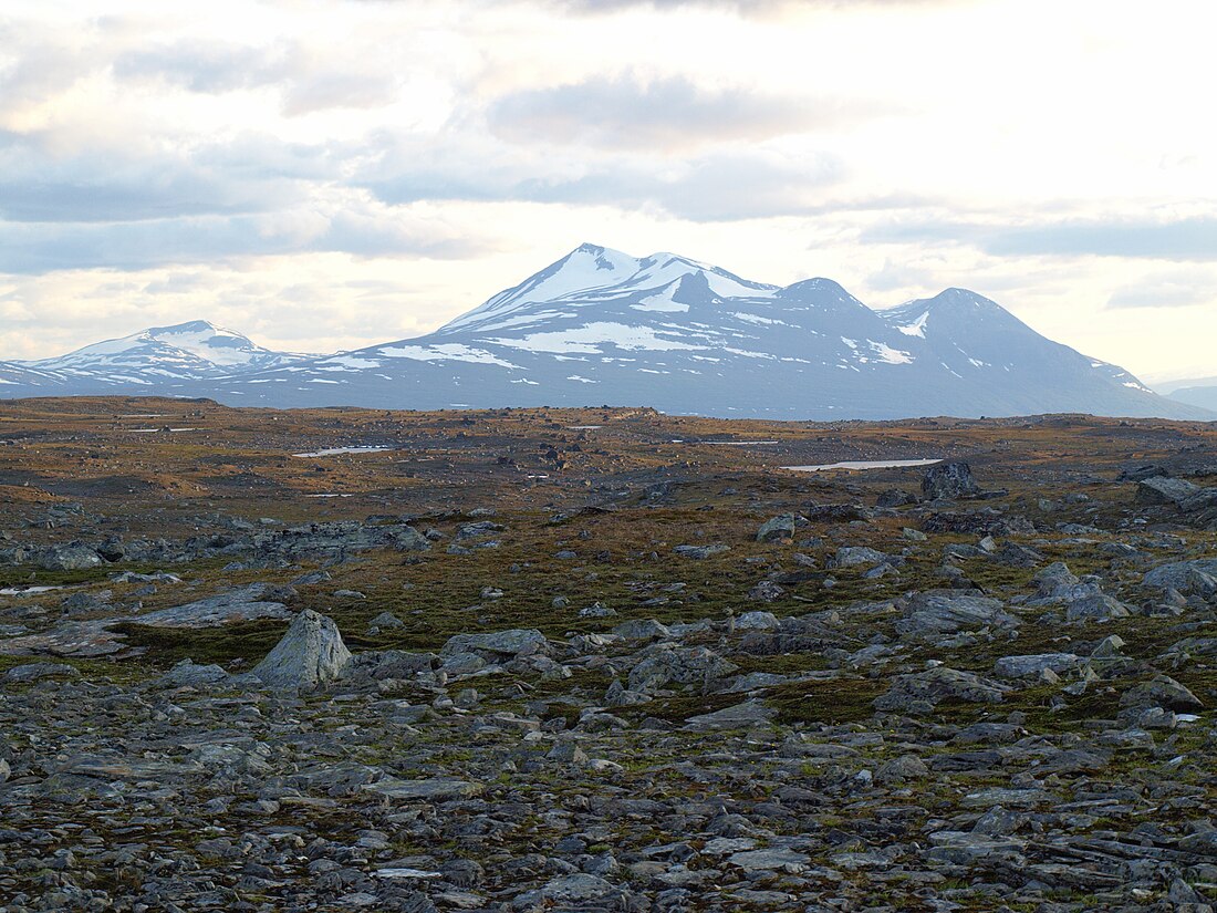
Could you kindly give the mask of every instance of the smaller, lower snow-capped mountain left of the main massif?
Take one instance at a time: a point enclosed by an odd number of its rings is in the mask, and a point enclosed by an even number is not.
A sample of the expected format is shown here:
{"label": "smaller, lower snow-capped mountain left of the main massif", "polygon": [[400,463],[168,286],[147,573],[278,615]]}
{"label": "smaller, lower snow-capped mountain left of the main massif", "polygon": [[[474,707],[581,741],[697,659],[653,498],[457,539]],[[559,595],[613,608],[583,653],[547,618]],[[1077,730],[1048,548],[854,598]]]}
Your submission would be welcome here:
{"label": "smaller, lower snow-capped mountain left of the main massif", "polygon": [[72,392],[159,387],[292,364],[309,355],[274,352],[206,320],[153,326],[38,362],[10,363],[56,379]]}

